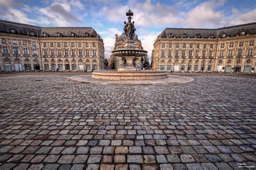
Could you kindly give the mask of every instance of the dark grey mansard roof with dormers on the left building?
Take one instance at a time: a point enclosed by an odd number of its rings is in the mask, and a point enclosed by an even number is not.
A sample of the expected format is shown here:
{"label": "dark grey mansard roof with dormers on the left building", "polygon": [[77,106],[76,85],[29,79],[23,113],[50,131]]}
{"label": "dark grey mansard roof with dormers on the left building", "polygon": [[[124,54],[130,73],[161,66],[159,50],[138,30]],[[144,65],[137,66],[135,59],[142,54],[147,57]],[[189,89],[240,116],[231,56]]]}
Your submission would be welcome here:
{"label": "dark grey mansard roof with dormers on the left building", "polygon": [[[15,30],[12,32],[11,30]],[[71,33],[75,33],[75,36],[91,36],[96,37],[97,32],[91,27],[40,27],[29,24],[22,24],[10,21],[4,21],[0,19],[0,32],[3,33],[16,33],[19,35],[31,35],[31,32],[35,33],[35,36],[43,36],[46,33],[47,36],[57,36],[60,33],[61,36],[71,36]]]}

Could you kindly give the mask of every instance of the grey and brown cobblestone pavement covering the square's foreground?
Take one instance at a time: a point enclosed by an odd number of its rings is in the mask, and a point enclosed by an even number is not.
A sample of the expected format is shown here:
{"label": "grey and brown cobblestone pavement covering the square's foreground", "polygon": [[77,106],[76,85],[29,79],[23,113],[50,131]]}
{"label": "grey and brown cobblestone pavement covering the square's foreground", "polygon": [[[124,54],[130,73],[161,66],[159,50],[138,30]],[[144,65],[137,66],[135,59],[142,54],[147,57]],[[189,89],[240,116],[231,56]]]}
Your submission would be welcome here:
{"label": "grey and brown cobblestone pavement covering the square's foreground", "polygon": [[[256,80],[0,78],[0,169],[255,169]],[[247,168],[242,168],[247,167]]]}

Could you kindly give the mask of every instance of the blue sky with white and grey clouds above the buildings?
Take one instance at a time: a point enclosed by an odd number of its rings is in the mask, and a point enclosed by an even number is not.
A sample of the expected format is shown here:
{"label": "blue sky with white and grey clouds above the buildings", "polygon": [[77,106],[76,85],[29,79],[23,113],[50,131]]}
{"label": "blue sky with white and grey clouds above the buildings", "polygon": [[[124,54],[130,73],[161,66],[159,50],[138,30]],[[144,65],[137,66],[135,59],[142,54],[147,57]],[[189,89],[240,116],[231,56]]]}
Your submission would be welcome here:
{"label": "blue sky with white and grey clouds above the buildings", "polygon": [[114,36],[131,9],[137,35],[151,58],[165,28],[220,28],[256,22],[255,0],[0,0],[0,19],[38,26],[91,26],[103,37],[109,58]]}

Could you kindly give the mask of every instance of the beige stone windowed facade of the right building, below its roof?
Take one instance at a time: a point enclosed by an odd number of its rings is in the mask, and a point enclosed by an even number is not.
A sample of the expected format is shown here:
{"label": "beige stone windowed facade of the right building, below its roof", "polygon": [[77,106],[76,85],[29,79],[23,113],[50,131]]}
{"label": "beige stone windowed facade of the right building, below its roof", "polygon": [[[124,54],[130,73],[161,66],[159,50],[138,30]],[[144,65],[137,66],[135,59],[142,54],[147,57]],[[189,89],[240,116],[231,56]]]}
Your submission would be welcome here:
{"label": "beige stone windowed facade of the right building, below its roof", "polygon": [[255,34],[219,38],[159,36],[154,43],[152,68],[172,72],[255,72],[255,43]]}

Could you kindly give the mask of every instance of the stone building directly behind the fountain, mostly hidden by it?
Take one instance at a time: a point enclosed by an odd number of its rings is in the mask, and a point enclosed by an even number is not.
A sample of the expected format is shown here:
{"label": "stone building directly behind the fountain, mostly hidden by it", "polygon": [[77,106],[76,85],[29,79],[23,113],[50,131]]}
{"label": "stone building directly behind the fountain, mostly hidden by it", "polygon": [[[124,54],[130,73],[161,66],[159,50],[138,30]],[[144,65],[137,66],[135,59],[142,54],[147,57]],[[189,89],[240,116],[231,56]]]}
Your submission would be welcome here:
{"label": "stone building directly behind the fountain, mostly hidden by it", "polygon": [[[125,45],[125,43],[122,40],[120,40],[120,36],[116,35],[116,40],[115,40],[115,43],[114,43],[114,49],[113,50],[123,49],[124,45]],[[135,49],[143,50],[142,42],[140,40],[135,41],[134,46],[135,46]],[[111,55],[109,60],[108,60],[109,67],[112,68],[112,69],[117,70],[119,64],[121,63],[121,58],[122,57],[117,57],[117,56]],[[143,60],[142,60],[141,63],[142,63],[142,69],[143,69],[143,67],[146,67],[147,65],[149,65],[149,58],[147,56],[144,56],[144,57],[142,57],[142,59]]]}

